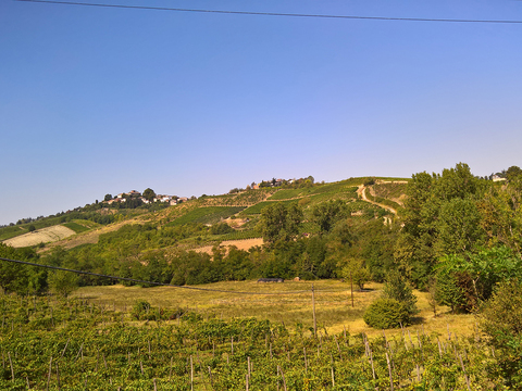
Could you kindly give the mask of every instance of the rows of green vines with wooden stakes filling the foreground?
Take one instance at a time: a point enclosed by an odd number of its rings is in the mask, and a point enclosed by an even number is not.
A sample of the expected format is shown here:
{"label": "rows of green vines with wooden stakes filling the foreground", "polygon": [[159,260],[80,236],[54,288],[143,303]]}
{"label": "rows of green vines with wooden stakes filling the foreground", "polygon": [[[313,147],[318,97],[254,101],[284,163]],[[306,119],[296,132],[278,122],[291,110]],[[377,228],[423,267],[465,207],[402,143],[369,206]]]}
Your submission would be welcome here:
{"label": "rows of green vines with wooden stakes filling the foreground", "polygon": [[368,339],[84,298],[0,297],[2,390],[490,390],[478,335]]}

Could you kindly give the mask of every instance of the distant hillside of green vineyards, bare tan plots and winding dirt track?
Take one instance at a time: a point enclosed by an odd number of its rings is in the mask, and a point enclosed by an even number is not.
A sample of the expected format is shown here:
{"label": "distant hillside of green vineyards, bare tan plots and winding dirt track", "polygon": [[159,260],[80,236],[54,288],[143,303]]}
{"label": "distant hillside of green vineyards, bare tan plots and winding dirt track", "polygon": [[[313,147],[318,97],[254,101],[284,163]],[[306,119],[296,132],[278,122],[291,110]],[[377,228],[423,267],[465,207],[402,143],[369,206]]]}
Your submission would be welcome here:
{"label": "distant hillside of green vineyards, bare tan plots and winding dirt track", "polygon": [[[260,213],[263,207],[274,203],[299,204],[304,210],[306,220],[309,217],[307,211],[311,211],[314,205],[334,200],[347,202],[353,216],[373,215],[371,211],[380,211],[380,215],[383,215],[386,207],[389,213],[396,213],[401,198],[405,197],[407,181],[380,178],[376,184],[364,186],[365,181],[368,178],[350,178],[313,186],[269,187],[222,195],[203,195],[174,206],[158,204],[157,209],[151,205],[135,210],[101,205],[97,209],[96,204],[91,204],[36,222],[0,228],[0,240],[15,248],[39,245],[39,251],[46,252],[58,245],[72,249],[97,243],[100,235],[134,224],[147,224],[154,229],[162,229],[187,224],[212,226],[224,222],[232,228],[217,235],[188,234],[181,243],[176,243],[184,249],[196,249],[212,247],[221,241],[229,243],[234,240],[261,238],[261,232],[257,229]],[[362,189],[368,190],[364,192]],[[389,209],[390,204],[395,209]],[[32,225],[36,227],[34,232],[29,232]],[[302,232],[307,231],[316,231],[316,227],[304,223]],[[158,248],[167,247],[170,245],[158,244]]]}

